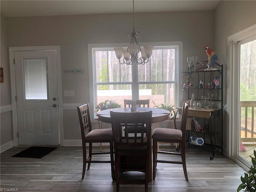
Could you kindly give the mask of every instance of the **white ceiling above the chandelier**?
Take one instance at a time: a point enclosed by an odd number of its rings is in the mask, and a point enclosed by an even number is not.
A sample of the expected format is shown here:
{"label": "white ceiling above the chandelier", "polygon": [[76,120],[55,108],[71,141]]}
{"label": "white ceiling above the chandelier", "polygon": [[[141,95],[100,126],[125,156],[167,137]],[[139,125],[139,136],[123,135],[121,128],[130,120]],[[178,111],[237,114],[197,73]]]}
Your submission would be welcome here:
{"label": "white ceiling above the chandelier", "polygon": [[[214,10],[219,0],[134,0],[134,12]],[[0,0],[6,17],[131,13],[132,0]]]}

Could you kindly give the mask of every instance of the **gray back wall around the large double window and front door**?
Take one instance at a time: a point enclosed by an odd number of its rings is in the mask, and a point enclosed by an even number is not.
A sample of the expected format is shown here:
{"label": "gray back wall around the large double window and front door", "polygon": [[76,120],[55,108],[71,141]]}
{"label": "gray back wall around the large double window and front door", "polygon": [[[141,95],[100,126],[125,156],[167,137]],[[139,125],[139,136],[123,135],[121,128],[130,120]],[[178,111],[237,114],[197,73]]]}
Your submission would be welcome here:
{"label": "gray back wall around the large double window and front door", "polygon": [[[131,14],[95,14],[7,18],[8,46],[60,45],[62,90],[74,90],[63,103],[89,102],[87,44],[129,43]],[[186,56],[206,60],[204,46],[214,46],[214,11],[136,13],[139,42],[183,41]],[[195,27],[196,24],[196,27]],[[184,66],[187,67],[186,62]],[[83,68],[84,74],[63,70]],[[80,139],[76,110],[64,110],[64,140]],[[97,125],[95,125],[97,126]]]}

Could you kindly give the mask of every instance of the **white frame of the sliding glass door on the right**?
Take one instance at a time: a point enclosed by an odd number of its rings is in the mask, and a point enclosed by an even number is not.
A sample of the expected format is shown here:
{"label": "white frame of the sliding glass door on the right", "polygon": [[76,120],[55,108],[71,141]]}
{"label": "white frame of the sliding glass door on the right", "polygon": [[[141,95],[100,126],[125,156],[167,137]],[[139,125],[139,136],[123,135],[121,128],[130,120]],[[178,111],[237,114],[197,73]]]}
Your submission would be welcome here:
{"label": "white frame of the sliding glass door on the right", "polygon": [[229,146],[228,146],[228,156],[234,159],[240,166],[244,169],[248,170],[248,165],[240,162],[236,157],[237,150],[239,148],[238,145],[238,123],[239,123],[239,59],[236,57],[238,54],[238,48],[236,44],[243,39],[249,38],[251,36],[256,35],[256,24],[237,32],[228,37],[228,66],[229,66],[229,88],[227,88],[226,94],[227,103],[228,103],[228,111],[229,115]]}

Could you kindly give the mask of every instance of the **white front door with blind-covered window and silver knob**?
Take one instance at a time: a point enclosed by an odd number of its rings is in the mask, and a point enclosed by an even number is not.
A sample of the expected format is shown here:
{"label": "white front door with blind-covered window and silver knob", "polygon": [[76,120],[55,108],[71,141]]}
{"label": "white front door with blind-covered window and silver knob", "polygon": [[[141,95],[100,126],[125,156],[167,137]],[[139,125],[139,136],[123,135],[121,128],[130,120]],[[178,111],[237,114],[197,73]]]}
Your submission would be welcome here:
{"label": "white front door with blind-covered window and silver knob", "polygon": [[18,145],[59,145],[56,50],[14,51]]}

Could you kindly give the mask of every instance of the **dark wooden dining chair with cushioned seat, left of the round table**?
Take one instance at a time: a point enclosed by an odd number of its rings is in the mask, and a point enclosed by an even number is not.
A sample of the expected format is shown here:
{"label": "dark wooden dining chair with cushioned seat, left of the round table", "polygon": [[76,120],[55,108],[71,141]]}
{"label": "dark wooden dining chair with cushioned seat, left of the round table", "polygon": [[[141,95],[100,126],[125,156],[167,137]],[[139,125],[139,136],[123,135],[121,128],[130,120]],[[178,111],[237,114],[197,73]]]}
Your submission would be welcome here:
{"label": "dark wooden dining chair with cushioned seat, left of the round table", "polygon": [[[111,176],[112,180],[115,180],[114,174],[114,147],[112,129],[96,129],[92,130],[92,124],[90,120],[89,104],[83,104],[77,107],[78,117],[80,122],[80,129],[82,135],[82,148],[83,148],[83,172],[82,179],[84,179],[86,163],[88,163],[87,170],[90,169],[91,163],[110,163],[111,164]],[[86,134],[86,132],[88,132]],[[110,151],[108,152],[93,152],[92,143],[106,142],[110,145]],[[86,155],[86,143],[89,144],[89,154]],[[92,156],[99,154],[110,154],[110,161],[92,160]]]}

